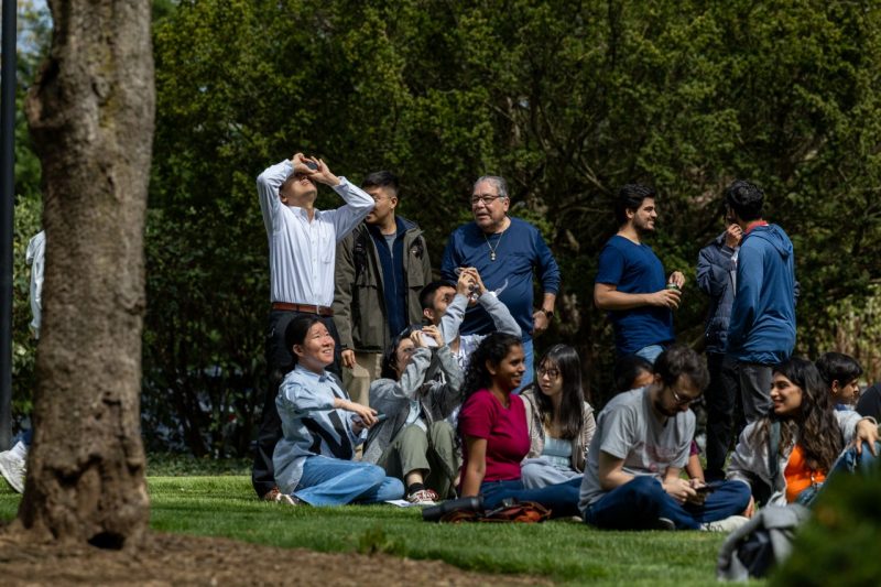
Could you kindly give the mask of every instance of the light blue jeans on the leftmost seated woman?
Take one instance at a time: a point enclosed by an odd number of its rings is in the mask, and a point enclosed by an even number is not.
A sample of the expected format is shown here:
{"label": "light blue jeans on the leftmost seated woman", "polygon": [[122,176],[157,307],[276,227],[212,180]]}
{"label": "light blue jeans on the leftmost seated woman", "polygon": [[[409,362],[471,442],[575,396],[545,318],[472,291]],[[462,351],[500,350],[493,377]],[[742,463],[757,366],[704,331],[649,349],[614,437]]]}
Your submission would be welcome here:
{"label": "light blue jeans on the leftmost seated woman", "polygon": [[294,497],[309,506],[380,503],[404,497],[404,483],[382,467],[358,460],[307,457]]}

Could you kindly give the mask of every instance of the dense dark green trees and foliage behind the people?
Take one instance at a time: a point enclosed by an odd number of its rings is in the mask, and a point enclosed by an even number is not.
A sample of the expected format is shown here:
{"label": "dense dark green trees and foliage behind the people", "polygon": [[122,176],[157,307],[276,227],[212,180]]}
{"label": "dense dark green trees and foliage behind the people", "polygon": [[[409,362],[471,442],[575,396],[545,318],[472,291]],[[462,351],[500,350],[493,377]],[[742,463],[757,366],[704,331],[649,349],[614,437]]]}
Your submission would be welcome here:
{"label": "dense dark green trees and foliage behind the people", "polygon": [[[561,319],[539,344],[579,348],[595,404],[612,343],[592,278],[618,187],[656,186],[651,244],[692,278],[676,328],[699,345],[697,252],[722,229],[724,186],[752,178],[795,243],[800,351],[850,351],[877,376],[881,334],[866,301],[881,263],[880,11],[816,0],[156,2],[146,439],[176,417],[184,431],[172,436],[195,454],[247,453],[269,298],[254,178],[300,150],[356,182],[398,173],[400,210],[426,230],[436,262],[468,219],[474,178],[504,175],[513,214],[542,228],[563,268]],[[318,204],[336,200],[326,191]]]}

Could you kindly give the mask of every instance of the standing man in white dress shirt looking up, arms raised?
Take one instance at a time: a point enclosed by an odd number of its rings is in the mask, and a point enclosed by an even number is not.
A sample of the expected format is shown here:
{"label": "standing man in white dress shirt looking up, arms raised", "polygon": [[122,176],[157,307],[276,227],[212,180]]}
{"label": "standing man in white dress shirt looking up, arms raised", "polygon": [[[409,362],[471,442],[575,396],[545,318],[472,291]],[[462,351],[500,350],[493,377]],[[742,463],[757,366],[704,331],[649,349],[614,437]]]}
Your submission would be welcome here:
{"label": "standing man in white dress shirt looking up, arms raised", "polygon": [[[335,210],[315,209],[317,183],[330,186],[346,204]],[[303,153],[268,167],[257,178],[257,192],[269,236],[272,309],[267,334],[269,381],[251,480],[258,496],[278,500],[281,493],[275,486],[272,454],[282,427],[275,395],[291,367],[284,330],[294,316],[317,314],[337,343],[338,357],[339,337],[330,309],[336,246],[365,219],[374,203],[361,188],[334,175],[324,161]],[[335,365],[338,368],[338,360]]]}

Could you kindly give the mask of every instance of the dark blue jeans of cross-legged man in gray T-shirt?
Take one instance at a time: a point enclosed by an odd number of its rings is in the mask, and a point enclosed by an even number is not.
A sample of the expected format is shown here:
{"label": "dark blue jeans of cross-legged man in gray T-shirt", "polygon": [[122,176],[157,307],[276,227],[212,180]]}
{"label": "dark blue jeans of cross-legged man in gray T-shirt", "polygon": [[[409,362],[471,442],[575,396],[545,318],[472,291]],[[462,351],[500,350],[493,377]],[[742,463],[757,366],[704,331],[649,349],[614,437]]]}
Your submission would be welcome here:
{"label": "dark blue jeans of cross-legged man in gray T-shirt", "polygon": [[742,513],[749,502],[747,483],[726,481],[707,496],[703,506],[681,506],[664,491],[660,480],[644,475],[588,506],[585,522],[609,530],[650,530],[655,528],[659,518],[666,518],[678,530],[697,530],[705,522]]}

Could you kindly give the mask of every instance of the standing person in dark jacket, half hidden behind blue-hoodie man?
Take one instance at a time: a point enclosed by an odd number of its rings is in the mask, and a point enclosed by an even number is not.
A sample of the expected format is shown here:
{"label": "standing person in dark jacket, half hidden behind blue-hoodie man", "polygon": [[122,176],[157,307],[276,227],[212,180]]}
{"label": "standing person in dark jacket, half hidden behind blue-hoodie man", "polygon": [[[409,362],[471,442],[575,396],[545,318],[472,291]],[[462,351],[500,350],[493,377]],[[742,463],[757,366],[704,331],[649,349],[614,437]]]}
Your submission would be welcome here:
{"label": "standing person in dark jacket, half hidden behind blue-hoodie man", "polygon": [[[730,220],[730,218],[729,218]],[[743,230],[731,224],[725,232],[700,249],[697,258],[697,286],[709,296],[709,311],[704,330],[709,387],[707,402],[708,481],[725,478],[725,459],[735,438],[735,404],[738,381],[733,360],[725,360],[728,324],[735,303],[735,259]]]}

